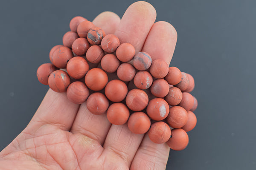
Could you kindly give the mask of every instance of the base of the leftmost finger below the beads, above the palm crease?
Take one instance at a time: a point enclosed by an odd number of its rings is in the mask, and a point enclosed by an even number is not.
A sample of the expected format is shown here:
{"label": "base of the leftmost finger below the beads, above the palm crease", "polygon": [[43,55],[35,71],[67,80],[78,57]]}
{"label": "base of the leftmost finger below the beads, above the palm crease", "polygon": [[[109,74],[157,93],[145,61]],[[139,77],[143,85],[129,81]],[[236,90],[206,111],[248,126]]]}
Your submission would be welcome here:
{"label": "base of the leftmost finger below the beads, above the palm crease", "polygon": [[70,130],[78,109],[79,105],[70,102],[66,93],[49,89],[26,129],[33,133],[39,127],[51,124],[62,130]]}

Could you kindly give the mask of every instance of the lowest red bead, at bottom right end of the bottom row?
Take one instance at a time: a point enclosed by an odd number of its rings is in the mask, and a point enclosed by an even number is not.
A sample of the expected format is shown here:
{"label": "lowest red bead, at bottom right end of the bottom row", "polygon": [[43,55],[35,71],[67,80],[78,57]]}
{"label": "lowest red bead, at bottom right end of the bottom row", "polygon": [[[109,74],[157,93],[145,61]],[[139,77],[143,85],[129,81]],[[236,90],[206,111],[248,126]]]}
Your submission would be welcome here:
{"label": "lowest red bead, at bottom right end of the bottom row", "polygon": [[172,150],[183,150],[189,144],[189,136],[183,129],[172,129],[171,138],[166,142],[166,144]]}

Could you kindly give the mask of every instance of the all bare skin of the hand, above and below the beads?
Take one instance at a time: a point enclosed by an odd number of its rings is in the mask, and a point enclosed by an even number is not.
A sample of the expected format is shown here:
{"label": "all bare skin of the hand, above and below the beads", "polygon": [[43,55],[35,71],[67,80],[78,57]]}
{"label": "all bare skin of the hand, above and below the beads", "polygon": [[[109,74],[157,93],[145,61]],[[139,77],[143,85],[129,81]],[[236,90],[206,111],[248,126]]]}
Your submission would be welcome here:
{"label": "all bare skin of the hand, above and below the beads", "polygon": [[[134,45],[136,53],[145,51],[169,64],[177,33],[155,19],[154,7],[140,1],[128,7],[122,20],[103,12],[93,23]],[[127,124],[111,125],[106,114],[93,115],[86,103],[74,104],[66,94],[49,90],[29,125],[0,152],[0,169],[164,170],[168,156],[166,143],[131,133]]]}

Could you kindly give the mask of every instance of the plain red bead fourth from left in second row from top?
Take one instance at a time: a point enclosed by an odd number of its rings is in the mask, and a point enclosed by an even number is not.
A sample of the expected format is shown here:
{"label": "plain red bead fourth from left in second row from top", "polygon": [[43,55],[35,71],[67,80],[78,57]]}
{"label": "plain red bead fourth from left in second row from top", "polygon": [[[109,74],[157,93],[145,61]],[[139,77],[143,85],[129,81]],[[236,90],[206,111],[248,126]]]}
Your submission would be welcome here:
{"label": "plain red bead fourth from left in second row from top", "polygon": [[101,66],[102,69],[108,73],[113,73],[119,67],[120,62],[114,54],[106,54],[102,57]]}

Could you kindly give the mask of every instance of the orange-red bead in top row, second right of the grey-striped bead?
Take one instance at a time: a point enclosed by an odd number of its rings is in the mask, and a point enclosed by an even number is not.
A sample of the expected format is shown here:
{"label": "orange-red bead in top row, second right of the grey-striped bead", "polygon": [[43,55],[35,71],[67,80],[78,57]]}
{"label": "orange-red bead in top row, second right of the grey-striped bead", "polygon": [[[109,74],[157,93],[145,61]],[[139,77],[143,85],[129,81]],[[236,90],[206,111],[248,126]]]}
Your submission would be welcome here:
{"label": "orange-red bead in top row, second right of the grey-striped bead", "polygon": [[168,82],[169,85],[176,85],[181,80],[181,72],[177,67],[169,67],[168,74],[164,79]]}

